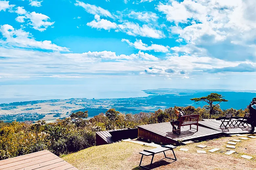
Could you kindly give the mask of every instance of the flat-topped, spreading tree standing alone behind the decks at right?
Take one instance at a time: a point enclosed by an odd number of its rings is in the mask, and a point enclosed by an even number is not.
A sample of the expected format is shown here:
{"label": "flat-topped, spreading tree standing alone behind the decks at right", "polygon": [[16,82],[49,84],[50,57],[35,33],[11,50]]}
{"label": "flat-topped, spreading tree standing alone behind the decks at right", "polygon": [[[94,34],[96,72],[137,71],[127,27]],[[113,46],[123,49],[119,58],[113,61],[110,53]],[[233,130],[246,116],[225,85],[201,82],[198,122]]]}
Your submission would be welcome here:
{"label": "flat-topped, spreading tree standing alone behind the decks at right", "polygon": [[[205,97],[199,97],[199,98],[192,98],[190,100],[195,101],[195,102],[206,102],[209,104],[210,107],[210,117],[213,114],[213,109],[215,106],[219,105],[221,102],[227,102],[228,100],[223,98],[224,96],[218,93],[211,93]],[[217,104],[213,104],[214,102],[218,102]]]}

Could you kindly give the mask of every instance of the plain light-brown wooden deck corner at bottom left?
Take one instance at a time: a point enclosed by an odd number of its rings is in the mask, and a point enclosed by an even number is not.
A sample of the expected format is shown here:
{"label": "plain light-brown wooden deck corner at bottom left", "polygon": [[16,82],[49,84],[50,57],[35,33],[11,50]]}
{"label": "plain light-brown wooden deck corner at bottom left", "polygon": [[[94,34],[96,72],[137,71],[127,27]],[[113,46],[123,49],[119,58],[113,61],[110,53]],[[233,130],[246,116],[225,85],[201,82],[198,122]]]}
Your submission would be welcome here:
{"label": "plain light-brown wooden deck corner at bottom left", "polygon": [[43,150],[0,161],[1,170],[78,170],[73,165]]}

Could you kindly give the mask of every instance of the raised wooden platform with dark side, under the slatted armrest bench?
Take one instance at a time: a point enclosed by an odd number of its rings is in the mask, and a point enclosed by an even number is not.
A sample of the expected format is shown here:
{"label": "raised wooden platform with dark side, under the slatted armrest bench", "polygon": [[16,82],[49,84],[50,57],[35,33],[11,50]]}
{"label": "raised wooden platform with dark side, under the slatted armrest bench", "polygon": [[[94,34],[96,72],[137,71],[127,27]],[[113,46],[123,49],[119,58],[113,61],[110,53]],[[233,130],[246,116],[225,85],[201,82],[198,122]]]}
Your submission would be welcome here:
{"label": "raised wooden platform with dark side, under the slatted armrest bench", "polygon": [[176,134],[172,132],[170,122],[141,125],[138,126],[138,129],[138,137],[140,139],[160,144],[177,143],[179,140],[183,142],[199,140],[201,138],[222,134],[221,131],[200,126],[196,132],[196,125],[192,125],[191,130],[189,126],[181,127],[181,134]]}

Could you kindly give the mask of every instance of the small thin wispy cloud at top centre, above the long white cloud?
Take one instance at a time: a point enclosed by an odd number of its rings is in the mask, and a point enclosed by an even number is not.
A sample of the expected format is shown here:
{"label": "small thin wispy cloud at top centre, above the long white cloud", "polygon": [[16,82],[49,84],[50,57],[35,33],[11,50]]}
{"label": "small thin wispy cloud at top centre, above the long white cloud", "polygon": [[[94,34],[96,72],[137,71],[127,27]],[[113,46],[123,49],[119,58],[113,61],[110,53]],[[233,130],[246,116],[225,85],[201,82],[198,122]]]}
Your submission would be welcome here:
{"label": "small thin wispy cloud at top centre, above the long white cloud", "polygon": [[131,11],[129,14],[128,14],[128,17],[129,18],[133,18],[133,19],[137,19],[139,21],[142,21],[142,22],[156,22],[158,20],[158,16],[156,13],[154,12],[135,12],[135,11]]}

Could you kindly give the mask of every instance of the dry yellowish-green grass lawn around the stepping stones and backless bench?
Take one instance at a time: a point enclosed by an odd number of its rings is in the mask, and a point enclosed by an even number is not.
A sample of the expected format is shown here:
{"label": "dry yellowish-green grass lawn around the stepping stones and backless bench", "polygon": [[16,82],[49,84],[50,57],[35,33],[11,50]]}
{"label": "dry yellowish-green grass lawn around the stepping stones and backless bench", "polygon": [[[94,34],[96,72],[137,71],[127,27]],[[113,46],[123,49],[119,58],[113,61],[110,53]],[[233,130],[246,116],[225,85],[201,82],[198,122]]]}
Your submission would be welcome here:
{"label": "dry yellowish-green grass lawn around the stepping stones and backless bench", "polygon": [[[256,169],[256,139],[249,139],[238,142],[235,149],[226,148],[227,142],[233,139],[239,139],[238,136],[223,137],[219,139],[204,141],[200,143],[179,146],[175,149],[178,161],[164,159],[163,154],[156,154],[153,167],[158,170],[255,170]],[[207,145],[206,148],[198,148],[196,145]],[[180,151],[180,148],[189,149],[187,152]],[[208,152],[213,148],[220,148],[214,153]],[[140,170],[139,161],[140,151],[151,149],[153,147],[143,146],[129,142],[120,142],[108,145],[93,146],[79,152],[63,157],[65,161],[71,163],[79,170]],[[197,153],[197,150],[205,150],[206,154]],[[236,152],[231,155],[224,153],[229,150]],[[167,151],[166,155],[172,157],[172,152]],[[241,155],[252,156],[251,160],[241,158]],[[142,165],[147,165],[151,161],[151,156],[143,157]],[[171,163],[172,162],[172,163]]]}

